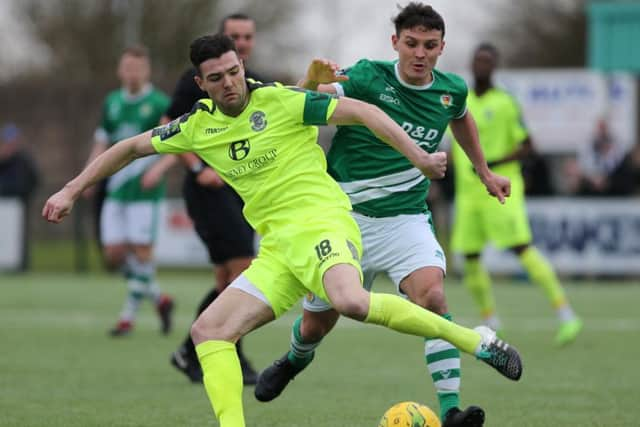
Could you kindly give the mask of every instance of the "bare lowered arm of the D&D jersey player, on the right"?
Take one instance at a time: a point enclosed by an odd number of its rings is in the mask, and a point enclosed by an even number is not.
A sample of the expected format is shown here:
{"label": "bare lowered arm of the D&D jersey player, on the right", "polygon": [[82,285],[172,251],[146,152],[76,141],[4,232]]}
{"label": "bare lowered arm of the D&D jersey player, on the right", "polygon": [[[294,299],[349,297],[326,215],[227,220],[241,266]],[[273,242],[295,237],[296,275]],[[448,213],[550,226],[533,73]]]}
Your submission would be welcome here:
{"label": "bare lowered arm of the D&D jersey player, on the right", "polygon": [[511,181],[509,181],[508,178],[491,172],[491,169],[487,166],[482,147],[480,146],[478,128],[471,113],[467,111],[463,117],[452,120],[449,126],[451,126],[451,131],[460,144],[460,147],[462,147],[469,160],[471,160],[476,173],[487,188],[489,194],[497,198],[500,203],[504,203],[505,197],[509,197],[511,194]]}

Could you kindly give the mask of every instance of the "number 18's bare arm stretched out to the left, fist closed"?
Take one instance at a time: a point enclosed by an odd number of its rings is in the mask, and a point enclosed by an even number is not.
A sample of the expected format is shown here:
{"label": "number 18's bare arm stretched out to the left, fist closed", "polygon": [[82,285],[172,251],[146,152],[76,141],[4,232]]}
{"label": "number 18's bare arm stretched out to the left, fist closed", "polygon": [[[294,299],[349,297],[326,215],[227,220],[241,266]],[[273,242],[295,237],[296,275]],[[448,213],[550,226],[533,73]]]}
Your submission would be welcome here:
{"label": "number 18's bare arm stretched out to the left, fist closed", "polygon": [[49,197],[42,209],[42,216],[49,222],[59,223],[69,215],[73,204],[85,188],[113,175],[138,157],[155,152],[151,145],[151,131],[118,142],[96,157],[60,191]]}

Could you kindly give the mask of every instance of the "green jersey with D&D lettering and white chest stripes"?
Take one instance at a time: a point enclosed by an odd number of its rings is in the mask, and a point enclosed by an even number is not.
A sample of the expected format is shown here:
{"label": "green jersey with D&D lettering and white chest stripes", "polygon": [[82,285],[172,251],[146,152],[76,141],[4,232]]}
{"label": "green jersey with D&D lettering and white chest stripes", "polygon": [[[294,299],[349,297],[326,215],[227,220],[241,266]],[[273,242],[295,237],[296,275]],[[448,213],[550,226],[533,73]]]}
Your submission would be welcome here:
{"label": "green jersey with D&D lettering and white chest stripes", "polygon": [[[338,95],[377,105],[425,151],[438,149],[449,121],[466,114],[467,85],[433,70],[424,86],[403,82],[397,62],[360,60],[334,83]],[[339,126],[327,155],[329,173],[367,216],[388,217],[427,211],[430,180],[402,154],[363,126]]]}

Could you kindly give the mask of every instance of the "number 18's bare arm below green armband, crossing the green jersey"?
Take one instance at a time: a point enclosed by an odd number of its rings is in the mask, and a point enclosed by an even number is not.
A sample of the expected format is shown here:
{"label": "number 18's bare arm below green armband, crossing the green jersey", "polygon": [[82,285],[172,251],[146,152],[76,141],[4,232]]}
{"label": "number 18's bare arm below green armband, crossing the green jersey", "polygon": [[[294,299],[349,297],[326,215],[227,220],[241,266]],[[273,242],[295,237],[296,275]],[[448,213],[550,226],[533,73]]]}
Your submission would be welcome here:
{"label": "number 18's bare arm below green armband, crossing the green jersey", "polygon": [[361,125],[402,153],[411,164],[431,179],[444,177],[446,153],[429,154],[420,148],[396,122],[380,108],[356,99],[341,97],[329,118],[329,124]]}

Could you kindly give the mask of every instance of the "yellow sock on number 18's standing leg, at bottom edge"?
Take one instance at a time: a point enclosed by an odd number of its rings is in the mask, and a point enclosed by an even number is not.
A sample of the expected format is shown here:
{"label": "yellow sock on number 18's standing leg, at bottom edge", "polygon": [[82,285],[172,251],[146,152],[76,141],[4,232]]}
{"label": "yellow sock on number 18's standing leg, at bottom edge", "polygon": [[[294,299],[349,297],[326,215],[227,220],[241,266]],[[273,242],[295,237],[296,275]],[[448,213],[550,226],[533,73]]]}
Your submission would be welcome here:
{"label": "yellow sock on number 18's standing leg, at bottom edge", "polygon": [[196,346],[196,353],[220,427],[245,427],[242,370],[236,346],[228,341],[204,341]]}

